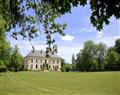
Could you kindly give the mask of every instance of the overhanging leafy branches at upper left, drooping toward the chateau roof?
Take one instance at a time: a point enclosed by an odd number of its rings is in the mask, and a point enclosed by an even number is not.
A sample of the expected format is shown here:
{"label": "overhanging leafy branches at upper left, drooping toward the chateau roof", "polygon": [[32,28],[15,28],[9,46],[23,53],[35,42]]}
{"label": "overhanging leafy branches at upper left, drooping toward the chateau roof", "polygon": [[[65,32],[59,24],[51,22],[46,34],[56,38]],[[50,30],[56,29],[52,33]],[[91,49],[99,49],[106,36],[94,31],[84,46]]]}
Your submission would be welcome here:
{"label": "overhanging leafy branches at upper left, drooping toward the chateau roof", "polygon": [[31,41],[41,33],[45,33],[48,45],[46,55],[49,57],[49,53],[57,52],[53,35],[55,33],[64,35],[63,30],[66,24],[55,22],[61,14],[52,9],[50,4],[41,2],[41,0],[9,0],[9,2],[1,0],[0,6],[0,15],[5,20],[7,29],[13,38],[18,39],[22,36],[23,39],[28,38]]}

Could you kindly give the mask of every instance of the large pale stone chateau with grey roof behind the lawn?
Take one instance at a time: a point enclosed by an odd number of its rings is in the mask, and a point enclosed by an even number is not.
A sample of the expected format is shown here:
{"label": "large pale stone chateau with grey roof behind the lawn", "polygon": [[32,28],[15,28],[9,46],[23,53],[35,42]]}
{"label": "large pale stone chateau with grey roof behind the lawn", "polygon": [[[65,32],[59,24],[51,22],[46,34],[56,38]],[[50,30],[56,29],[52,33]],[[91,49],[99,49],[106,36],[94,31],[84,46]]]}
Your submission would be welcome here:
{"label": "large pale stone chateau with grey roof behind the lawn", "polygon": [[46,58],[45,51],[33,50],[24,58],[24,68],[27,70],[60,71],[61,58],[55,54],[49,54]]}

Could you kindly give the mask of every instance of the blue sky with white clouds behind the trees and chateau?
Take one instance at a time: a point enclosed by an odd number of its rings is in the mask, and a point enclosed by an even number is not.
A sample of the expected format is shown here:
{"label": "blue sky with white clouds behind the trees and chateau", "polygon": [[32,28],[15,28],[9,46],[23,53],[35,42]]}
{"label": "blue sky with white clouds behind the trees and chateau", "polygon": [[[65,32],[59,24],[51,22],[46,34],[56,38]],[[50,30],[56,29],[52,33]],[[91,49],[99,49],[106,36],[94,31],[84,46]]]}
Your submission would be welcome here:
{"label": "blue sky with white clouds behind the trees and chateau", "polygon": [[[67,24],[64,31],[66,35],[55,34],[54,37],[58,46],[58,55],[68,63],[71,63],[72,55],[76,56],[87,40],[93,40],[95,43],[103,42],[110,47],[114,46],[117,38],[120,38],[120,20],[111,17],[110,24],[108,26],[104,25],[102,31],[97,31],[90,22],[90,15],[89,5],[78,6],[72,8],[71,13],[67,13],[56,20],[61,24]],[[34,45],[36,50],[45,50],[46,47],[44,34],[32,40],[31,43],[28,40],[15,40],[12,37],[8,37],[8,41],[10,41],[12,47],[18,45],[23,56],[26,56],[32,50],[31,44]]]}

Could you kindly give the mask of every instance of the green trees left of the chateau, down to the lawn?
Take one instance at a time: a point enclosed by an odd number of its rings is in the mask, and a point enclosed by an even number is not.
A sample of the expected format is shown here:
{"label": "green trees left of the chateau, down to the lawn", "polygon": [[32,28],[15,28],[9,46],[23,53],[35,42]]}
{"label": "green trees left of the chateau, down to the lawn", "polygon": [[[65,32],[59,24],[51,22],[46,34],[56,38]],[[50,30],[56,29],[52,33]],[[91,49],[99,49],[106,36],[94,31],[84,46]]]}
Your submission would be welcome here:
{"label": "green trees left of the chateau, down to the lawn", "polygon": [[0,32],[0,72],[19,71],[22,69],[23,57],[17,46],[10,47],[3,31]]}

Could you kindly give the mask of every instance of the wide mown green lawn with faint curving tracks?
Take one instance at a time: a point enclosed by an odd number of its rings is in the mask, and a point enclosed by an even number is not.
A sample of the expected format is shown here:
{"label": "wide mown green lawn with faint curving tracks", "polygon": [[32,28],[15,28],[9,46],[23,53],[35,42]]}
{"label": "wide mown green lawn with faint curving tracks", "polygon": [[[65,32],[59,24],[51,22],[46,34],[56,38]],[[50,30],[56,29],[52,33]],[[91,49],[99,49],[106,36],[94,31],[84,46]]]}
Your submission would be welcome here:
{"label": "wide mown green lawn with faint curving tracks", "polygon": [[0,95],[120,95],[120,72],[1,73]]}

